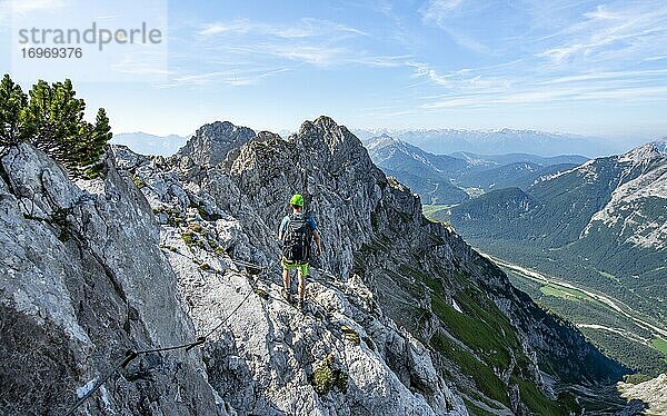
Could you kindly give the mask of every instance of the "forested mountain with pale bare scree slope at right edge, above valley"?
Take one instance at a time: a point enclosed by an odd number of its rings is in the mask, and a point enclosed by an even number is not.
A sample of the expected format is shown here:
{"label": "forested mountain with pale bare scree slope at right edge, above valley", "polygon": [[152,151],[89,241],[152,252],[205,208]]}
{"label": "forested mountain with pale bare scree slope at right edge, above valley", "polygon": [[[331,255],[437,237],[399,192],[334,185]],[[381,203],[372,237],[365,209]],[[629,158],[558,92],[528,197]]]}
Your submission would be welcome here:
{"label": "forested mountain with pale bare scree slope at right edge, above valley", "polygon": [[[588,261],[611,273],[658,278],[666,271],[656,274],[656,268],[667,267],[665,141],[544,176],[525,191],[494,190],[450,212],[454,225],[467,236],[567,248],[586,254]],[[644,249],[659,255],[626,261],[628,250]],[[654,289],[646,294],[656,295]],[[656,300],[664,301],[665,295]]]}

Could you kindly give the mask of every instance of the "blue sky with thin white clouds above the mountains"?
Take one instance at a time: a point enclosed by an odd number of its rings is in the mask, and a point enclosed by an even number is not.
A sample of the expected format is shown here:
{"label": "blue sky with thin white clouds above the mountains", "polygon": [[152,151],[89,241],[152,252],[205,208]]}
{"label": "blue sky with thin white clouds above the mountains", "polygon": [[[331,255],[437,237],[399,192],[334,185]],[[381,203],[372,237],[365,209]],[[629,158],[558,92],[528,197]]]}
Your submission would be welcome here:
{"label": "blue sky with thin white clouds above the mountains", "polygon": [[326,113],[360,128],[667,135],[665,0],[172,1],[167,13],[166,68],[143,59],[115,70],[146,81],[73,79],[117,132],[183,135],[218,119],[293,130]]}

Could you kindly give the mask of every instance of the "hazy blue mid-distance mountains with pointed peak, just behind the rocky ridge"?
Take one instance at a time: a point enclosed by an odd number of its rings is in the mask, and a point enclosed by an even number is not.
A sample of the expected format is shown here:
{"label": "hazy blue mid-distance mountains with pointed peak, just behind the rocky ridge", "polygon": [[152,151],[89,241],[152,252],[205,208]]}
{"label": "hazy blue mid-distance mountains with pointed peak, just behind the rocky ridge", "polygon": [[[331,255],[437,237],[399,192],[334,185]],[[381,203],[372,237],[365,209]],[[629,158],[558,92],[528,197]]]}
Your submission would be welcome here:
{"label": "hazy blue mid-distance mountains with pointed peak, just behind the rocky ridge", "polygon": [[576,155],[434,155],[388,135],[366,140],[366,147],[377,166],[409,186],[425,204],[459,204],[490,189],[527,188],[588,160]]}

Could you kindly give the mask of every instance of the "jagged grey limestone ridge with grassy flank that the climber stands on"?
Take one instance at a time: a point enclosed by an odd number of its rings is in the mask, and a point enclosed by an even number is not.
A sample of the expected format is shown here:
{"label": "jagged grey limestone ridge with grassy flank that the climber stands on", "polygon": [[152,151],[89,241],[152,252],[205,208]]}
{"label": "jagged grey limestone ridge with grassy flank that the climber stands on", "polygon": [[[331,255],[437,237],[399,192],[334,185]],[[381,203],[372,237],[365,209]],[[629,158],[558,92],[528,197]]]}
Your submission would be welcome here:
{"label": "jagged grey limestone ridge with grassy flank that the climber stands on", "polygon": [[[115,146],[76,182],[19,145],[0,177],[0,414],[567,415],[623,373],[328,117]],[[303,310],[278,265],[296,192],[323,242]]]}

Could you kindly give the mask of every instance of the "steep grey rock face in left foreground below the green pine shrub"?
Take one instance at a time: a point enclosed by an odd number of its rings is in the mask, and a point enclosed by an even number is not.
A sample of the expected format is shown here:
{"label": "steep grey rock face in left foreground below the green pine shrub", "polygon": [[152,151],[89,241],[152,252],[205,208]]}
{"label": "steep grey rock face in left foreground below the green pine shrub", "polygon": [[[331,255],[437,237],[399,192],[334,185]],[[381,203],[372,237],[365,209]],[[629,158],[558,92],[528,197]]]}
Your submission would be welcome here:
{"label": "steep grey rock face in left foreground below the green pine shrub", "polygon": [[[195,338],[153,214],[112,160],[82,187],[27,145],[1,165],[0,413],[64,414],[127,349]],[[198,350],[146,355],[122,374],[82,409],[222,414]]]}

